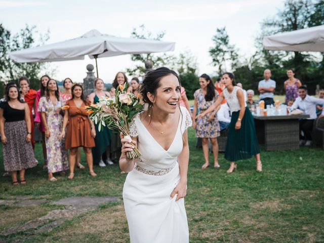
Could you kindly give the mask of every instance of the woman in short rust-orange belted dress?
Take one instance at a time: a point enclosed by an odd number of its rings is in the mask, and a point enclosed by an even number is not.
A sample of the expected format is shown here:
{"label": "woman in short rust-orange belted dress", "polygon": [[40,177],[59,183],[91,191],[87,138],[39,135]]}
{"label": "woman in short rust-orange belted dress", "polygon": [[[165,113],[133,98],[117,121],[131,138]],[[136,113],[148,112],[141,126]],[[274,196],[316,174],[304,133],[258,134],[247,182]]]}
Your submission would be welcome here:
{"label": "woman in short rust-orange belted dress", "polygon": [[70,149],[69,179],[73,179],[74,177],[75,157],[78,147],[84,148],[90,175],[93,177],[97,176],[93,171],[93,159],[91,153],[91,148],[95,146],[94,137],[96,137],[96,130],[94,124],[90,123],[88,118],[87,110],[85,109],[87,104],[88,102],[83,93],[82,85],[73,85],[72,99],[66,101],[66,105],[69,106],[69,108],[65,110],[63,127],[60,135],[60,139],[65,136],[65,128],[68,123],[65,137],[65,149]]}

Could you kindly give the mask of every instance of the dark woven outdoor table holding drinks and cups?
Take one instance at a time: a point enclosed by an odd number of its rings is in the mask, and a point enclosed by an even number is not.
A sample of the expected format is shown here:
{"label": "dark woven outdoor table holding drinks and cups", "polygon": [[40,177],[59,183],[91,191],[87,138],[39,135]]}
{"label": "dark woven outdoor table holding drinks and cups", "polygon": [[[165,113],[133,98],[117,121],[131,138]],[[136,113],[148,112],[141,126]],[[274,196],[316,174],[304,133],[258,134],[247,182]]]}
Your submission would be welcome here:
{"label": "dark woven outdoor table holding drinks and cups", "polygon": [[299,119],[309,115],[270,115],[253,114],[258,141],[265,144],[266,150],[299,148]]}

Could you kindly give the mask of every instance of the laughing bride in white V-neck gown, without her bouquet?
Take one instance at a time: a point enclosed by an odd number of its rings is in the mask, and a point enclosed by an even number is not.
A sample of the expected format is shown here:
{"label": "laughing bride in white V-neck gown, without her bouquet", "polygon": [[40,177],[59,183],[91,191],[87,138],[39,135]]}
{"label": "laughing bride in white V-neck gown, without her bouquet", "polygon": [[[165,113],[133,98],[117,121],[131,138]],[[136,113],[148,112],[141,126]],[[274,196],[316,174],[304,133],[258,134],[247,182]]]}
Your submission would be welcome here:
{"label": "laughing bride in white V-neck gown, without her bouquet", "polygon": [[133,148],[120,134],[120,169],[130,172],[123,198],[132,243],[189,242],[184,197],[187,187],[190,114],[179,106],[180,81],[166,67],[149,71],[140,88],[148,109],[134,118],[131,137],[141,157],[126,158]]}

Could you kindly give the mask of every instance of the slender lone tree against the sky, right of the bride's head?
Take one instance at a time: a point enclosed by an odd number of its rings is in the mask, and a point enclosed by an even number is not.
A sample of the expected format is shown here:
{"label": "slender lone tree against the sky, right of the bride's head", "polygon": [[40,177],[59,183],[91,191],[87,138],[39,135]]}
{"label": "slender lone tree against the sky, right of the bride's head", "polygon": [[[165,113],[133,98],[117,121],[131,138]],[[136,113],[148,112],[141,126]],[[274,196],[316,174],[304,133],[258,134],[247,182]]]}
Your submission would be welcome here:
{"label": "slender lone tree against the sky, right of the bride's head", "polygon": [[213,36],[214,47],[209,49],[213,59],[212,64],[217,67],[218,74],[233,70],[238,64],[238,54],[234,45],[229,44],[226,28],[217,28]]}

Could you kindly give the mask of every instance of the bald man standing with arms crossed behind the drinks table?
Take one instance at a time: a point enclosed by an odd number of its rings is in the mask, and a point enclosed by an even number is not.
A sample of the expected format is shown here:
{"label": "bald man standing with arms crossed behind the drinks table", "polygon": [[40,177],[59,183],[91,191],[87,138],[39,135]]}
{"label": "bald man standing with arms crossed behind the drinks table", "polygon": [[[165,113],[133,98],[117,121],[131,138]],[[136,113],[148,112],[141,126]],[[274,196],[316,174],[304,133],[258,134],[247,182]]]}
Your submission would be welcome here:
{"label": "bald man standing with arms crossed behind the drinks table", "polygon": [[265,69],[263,72],[264,79],[259,82],[258,90],[260,92],[260,101],[264,101],[265,107],[267,105],[273,105],[275,81],[270,79],[271,71],[270,69]]}

